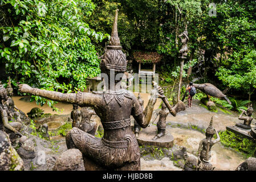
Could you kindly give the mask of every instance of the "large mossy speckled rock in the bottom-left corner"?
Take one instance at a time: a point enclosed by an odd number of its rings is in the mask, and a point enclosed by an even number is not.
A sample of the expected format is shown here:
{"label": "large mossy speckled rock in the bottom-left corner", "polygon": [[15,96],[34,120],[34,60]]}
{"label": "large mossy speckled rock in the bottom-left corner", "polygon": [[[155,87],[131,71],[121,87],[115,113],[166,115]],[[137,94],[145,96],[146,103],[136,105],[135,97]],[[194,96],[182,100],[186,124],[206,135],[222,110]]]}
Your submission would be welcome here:
{"label": "large mossy speckled rock in the bottom-left corner", "polygon": [[0,130],[0,171],[21,171],[23,160],[11,146],[9,136]]}

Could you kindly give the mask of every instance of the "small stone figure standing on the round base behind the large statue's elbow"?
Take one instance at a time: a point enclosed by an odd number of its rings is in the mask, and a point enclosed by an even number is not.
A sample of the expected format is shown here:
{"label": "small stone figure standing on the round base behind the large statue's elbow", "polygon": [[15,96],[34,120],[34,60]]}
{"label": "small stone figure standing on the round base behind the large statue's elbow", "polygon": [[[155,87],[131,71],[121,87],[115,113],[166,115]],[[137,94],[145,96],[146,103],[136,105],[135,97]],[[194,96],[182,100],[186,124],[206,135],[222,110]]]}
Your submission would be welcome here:
{"label": "small stone figure standing on the round base behind the large statue's elbow", "polygon": [[156,140],[158,138],[161,138],[165,135],[165,129],[166,129],[166,117],[169,114],[169,110],[166,109],[166,105],[164,102],[162,102],[162,108],[159,111],[159,121],[157,122],[157,135],[152,139]]}

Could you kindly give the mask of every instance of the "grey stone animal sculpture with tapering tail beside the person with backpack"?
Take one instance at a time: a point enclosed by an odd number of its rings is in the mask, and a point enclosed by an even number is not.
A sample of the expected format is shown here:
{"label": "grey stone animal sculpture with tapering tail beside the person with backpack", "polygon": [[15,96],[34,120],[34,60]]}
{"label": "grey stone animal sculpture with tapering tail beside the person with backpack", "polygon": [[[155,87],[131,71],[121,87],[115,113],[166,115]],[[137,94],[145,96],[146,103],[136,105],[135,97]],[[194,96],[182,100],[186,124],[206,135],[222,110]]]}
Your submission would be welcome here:
{"label": "grey stone animal sculpture with tapering tail beside the person with backpack", "polygon": [[196,89],[204,92],[210,100],[210,96],[217,98],[224,98],[229,104],[231,104],[230,100],[224,95],[221,90],[219,90],[213,84],[205,83],[205,84],[193,84]]}

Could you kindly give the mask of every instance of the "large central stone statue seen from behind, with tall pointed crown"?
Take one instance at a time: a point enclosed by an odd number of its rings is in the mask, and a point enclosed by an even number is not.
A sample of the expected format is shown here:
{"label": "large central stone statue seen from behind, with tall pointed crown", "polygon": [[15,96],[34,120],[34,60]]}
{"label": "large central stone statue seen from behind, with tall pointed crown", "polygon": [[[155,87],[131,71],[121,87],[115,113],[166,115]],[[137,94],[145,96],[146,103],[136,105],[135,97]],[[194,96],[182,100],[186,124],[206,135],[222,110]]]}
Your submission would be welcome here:
{"label": "large central stone statue seen from behind, with tall pointed crown", "polygon": [[[123,73],[127,70],[125,54],[121,51],[117,34],[117,12],[113,22],[110,46],[107,46],[101,59],[101,76],[106,90],[102,92],[60,93],[19,85],[19,91],[54,101],[93,107],[104,128],[103,138],[94,137],[78,127],[73,127],[66,136],[67,148],[78,148],[85,158],[104,169],[140,170],[140,150],[131,128],[131,115],[143,128],[147,127],[153,107],[159,94],[164,93],[160,86],[153,89],[151,99],[144,112],[132,92],[121,89]],[[176,107],[178,108],[178,107]]]}

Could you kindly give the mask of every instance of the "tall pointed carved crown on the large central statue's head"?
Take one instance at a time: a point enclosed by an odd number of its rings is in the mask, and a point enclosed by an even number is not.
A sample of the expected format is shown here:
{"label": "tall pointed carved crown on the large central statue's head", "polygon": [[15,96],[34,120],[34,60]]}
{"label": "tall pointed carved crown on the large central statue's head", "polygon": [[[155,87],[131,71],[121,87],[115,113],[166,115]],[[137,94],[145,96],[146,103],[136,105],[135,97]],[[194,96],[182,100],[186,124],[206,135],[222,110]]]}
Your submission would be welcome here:
{"label": "tall pointed carved crown on the large central statue's head", "polygon": [[111,37],[109,39],[109,46],[105,50],[103,59],[101,59],[101,71],[102,69],[112,69],[116,72],[127,71],[127,61],[126,56],[121,50],[120,40],[117,32],[117,16],[118,9],[116,10],[115,19],[113,20],[113,27],[111,32]]}

